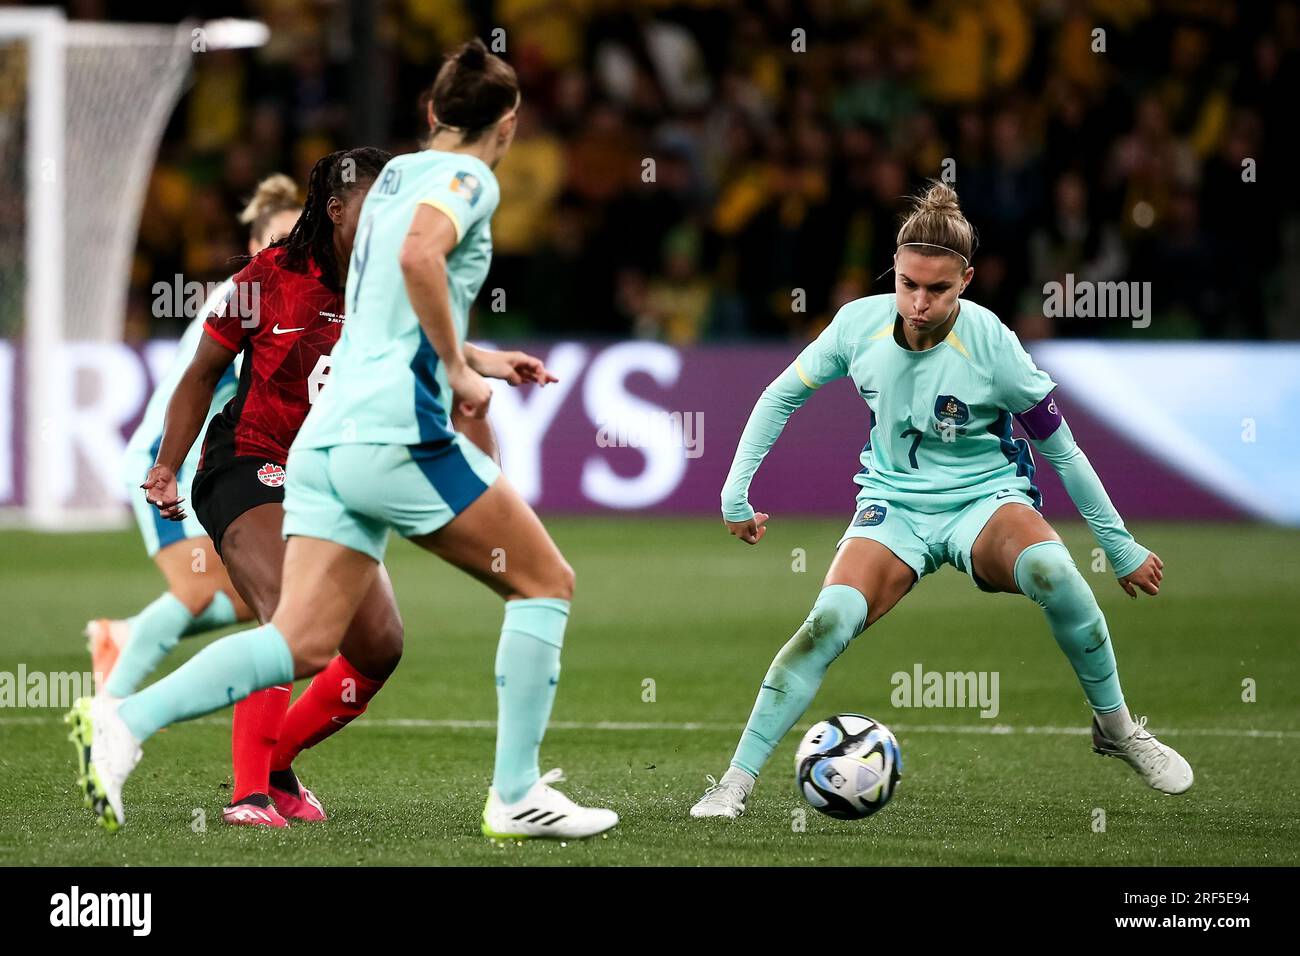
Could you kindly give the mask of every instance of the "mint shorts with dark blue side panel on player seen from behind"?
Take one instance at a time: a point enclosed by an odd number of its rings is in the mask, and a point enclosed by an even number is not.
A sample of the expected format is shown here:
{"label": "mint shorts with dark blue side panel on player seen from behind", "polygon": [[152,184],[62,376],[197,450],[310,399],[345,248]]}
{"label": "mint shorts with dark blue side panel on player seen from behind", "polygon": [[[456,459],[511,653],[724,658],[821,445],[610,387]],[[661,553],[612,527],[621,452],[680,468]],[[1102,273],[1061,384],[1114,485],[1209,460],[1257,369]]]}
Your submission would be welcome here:
{"label": "mint shorts with dark blue side panel on player seen from behind", "polygon": [[320,537],[384,561],[389,528],[437,531],[500,475],[460,433],[424,445],[333,445],[289,450],[283,535]]}

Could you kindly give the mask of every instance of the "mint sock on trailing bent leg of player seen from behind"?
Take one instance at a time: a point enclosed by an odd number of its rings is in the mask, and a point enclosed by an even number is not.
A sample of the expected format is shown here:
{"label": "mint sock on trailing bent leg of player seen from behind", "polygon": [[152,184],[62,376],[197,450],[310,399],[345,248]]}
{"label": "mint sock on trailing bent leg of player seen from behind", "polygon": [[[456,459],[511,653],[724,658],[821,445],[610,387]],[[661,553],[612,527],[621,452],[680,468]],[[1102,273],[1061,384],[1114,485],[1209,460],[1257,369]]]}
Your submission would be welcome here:
{"label": "mint sock on trailing bent leg of player seen from behind", "polygon": [[181,667],[122,701],[118,713],[136,740],[294,679],[294,656],[274,624],[213,641]]}

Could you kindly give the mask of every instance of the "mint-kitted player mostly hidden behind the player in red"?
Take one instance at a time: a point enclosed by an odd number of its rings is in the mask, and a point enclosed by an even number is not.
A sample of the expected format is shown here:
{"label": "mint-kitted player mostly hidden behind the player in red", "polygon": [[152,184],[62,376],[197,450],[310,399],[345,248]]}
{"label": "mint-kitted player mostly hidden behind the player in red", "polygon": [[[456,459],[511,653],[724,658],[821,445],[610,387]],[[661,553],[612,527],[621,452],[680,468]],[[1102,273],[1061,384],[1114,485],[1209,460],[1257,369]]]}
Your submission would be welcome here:
{"label": "mint-kitted player mostly hidden behind the player in red", "polygon": [[[299,212],[302,204],[298,200],[298,186],[287,176],[276,173],[257,183],[252,199],[239,213],[239,221],[248,226],[248,255],[257,255],[277,238],[286,235],[294,228]],[[166,578],[168,589],[133,618],[98,618],[86,624],[96,687],[112,684],[113,693],[118,697],[135,691],[182,637],[252,618],[252,611],[230,583],[199,519],[190,515],[183,522],[169,522],[139,492],[140,481],[153,467],[162,437],[162,418],[172,393],[203,338],[203,320],[225,300],[229,289],[230,282],[222,282],[181,336],[176,358],[159,380],[144,408],[144,418],[126,444],[122,475],[131,492],[135,522],[144,538],[146,551]],[[235,386],[235,368],[231,365],[212,395],[204,427],[234,398]],[[190,483],[199,467],[199,451],[195,446],[177,475],[182,498],[190,497]]]}

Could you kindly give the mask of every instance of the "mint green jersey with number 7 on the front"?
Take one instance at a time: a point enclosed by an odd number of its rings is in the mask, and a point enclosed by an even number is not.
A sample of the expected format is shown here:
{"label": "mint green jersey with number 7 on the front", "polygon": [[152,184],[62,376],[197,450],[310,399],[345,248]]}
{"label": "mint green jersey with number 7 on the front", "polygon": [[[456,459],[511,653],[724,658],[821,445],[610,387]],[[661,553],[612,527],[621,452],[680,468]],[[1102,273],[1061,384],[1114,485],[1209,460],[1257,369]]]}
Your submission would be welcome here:
{"label": "mint green jersey with number 7 on the front", "polygon": [[894,295],[848,303],[809,345],[796,371],[809,388],[850,376],[872,427],[854,481],[859,499],[939,514],[994,492],[1041,501],[1028,442],[1011,416],[1056,384],[996,315],[962,300],[948,337],[924,351],[894,341]]}

